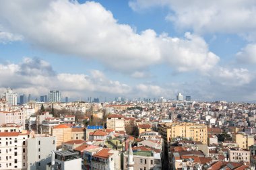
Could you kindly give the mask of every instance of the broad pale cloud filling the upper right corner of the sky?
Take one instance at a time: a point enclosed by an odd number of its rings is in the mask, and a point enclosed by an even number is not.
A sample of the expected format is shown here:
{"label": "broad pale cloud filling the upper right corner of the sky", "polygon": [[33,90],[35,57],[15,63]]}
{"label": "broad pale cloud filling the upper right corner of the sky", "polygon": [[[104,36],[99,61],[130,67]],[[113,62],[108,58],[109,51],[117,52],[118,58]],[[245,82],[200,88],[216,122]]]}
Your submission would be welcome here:
{"label": "broad pale cloud filling the upper right corner of the sky", "polygon": [[255,33],[255,0],[132,0],[129,5],[135,11],[150,7],[168,7],[170,14],[166,19],[177,28],[192,28],[197,33]]}

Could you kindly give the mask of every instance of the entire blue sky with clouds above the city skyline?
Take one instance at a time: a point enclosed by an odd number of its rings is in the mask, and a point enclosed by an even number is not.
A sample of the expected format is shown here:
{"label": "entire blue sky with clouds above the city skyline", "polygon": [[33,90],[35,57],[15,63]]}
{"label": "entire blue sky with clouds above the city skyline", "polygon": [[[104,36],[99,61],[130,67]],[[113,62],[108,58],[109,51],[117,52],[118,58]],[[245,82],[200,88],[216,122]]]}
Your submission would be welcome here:
{"label": "entire blue sky with clouds above the city skyline", "polygon": [[256,100],[256,1],[0,2],[0,92]]}

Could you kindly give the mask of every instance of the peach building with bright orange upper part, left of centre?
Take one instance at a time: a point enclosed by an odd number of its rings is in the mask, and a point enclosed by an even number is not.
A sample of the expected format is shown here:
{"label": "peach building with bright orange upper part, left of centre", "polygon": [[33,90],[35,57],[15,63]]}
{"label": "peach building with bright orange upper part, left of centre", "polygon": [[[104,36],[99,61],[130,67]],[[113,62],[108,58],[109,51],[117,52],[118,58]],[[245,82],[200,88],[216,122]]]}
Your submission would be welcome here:
{"label": "peach building with bright orange upper part, left of centre", "polygon": [[65,124],[60,124],[52,129],[52,135],[56,136],[56,146],[61,146],[62,142],[67,142],[72,138],[72,128]]}

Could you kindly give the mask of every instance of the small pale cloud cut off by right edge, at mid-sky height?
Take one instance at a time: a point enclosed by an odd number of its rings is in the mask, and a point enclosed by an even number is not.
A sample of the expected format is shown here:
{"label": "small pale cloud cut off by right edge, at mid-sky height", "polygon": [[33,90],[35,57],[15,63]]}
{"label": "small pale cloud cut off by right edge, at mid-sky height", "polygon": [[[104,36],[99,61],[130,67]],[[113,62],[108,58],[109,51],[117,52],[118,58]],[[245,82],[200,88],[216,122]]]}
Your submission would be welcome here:
{"label": "small pale cloud cut off by right edge, at mid-sky height", "polygon": [[239,63],[256,64],[256,44],[247,44],[236,54],[236,59]]}

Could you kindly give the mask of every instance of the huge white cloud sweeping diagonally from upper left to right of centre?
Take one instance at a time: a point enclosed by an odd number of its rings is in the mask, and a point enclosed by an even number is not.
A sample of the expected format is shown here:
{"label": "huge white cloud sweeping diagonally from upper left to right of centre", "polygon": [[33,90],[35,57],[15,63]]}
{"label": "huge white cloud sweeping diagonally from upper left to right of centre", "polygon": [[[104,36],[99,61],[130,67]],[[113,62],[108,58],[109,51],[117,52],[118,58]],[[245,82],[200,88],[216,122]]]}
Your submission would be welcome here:
{"label": "huge white cloud sweeping diagonally from upper left to right of centre", "polygon": [[177,71],[206,71],[219,60],[199,36],[136,33],[95,2],[1,1],[0,24],[40,48],[93,58],[123,73],[162,63]]}

